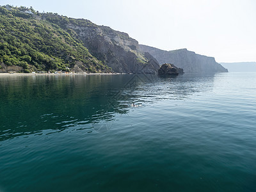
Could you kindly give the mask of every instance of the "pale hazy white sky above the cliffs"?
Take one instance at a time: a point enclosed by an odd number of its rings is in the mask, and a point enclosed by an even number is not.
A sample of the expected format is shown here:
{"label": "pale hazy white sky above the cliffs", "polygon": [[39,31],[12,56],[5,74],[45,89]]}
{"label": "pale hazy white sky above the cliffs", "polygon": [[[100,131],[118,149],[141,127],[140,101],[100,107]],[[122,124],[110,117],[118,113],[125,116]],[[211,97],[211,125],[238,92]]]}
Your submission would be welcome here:
{"label": "pale hazy white sky above the cliffs", "polygon": [[89,19],[167,51],[187,48],[217,62],[256,61],[255,0],[0,0],[0,4]]}

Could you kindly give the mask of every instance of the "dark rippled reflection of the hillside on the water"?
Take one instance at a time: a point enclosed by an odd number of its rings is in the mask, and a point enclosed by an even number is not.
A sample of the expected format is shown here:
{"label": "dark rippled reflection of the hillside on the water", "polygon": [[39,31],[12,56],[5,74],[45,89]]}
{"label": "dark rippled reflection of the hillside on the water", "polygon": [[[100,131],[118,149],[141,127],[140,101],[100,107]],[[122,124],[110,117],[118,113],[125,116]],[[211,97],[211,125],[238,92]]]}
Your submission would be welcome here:
{"label": "dark rippled reflection of the hillside on the water", "polygon": [[0,141],[72,129],[108,131],[117,114],[163,99],[186,99],[211,89],[214,75],[159,78],[115,76],[0,76]]}

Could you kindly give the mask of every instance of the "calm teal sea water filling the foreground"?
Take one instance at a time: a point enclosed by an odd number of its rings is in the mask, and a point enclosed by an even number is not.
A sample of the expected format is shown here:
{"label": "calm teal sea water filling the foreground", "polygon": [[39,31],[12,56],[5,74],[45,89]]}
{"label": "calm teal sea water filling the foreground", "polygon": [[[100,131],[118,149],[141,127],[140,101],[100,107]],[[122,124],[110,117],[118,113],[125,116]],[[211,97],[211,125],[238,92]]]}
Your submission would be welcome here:
{"label": "calm teal sea water filling the foreground", "polygon": [[0,76],[0,100],[1,192],[256,190],[256,73]]}

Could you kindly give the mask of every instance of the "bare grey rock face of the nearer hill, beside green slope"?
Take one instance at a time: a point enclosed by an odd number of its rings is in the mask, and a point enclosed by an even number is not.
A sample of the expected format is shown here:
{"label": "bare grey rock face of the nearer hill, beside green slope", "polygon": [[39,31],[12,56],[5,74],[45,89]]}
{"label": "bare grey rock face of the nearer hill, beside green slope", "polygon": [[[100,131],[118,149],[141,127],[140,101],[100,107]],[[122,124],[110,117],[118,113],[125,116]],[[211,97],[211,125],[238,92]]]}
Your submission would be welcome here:
{"label": "bare grey rock face of the nearer hill, beside green slope", "polygon": [[89,21],[86,26],[69,24],[67,28],[76,33],[95,58],[106,63],[114,72],[156,74],[159,68],[150,54],[139,51],[138,42],[127,33]]}

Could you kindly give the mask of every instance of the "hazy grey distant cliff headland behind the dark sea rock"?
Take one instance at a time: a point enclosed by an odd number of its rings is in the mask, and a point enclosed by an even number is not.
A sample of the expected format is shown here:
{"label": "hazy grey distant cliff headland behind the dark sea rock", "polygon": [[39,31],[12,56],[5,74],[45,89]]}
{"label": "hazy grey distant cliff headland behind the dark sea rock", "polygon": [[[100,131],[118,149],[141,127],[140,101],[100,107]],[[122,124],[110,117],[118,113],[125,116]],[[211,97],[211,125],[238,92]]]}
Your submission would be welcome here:
{"label": "hazy grey distant cliff headland behind the dark sea rock", "polygon": [[163,51],[147,45],[140,45],[142,52],[149,52],[160,63],[173,63],[176,67],[183,68],[185,73],[214,73],[228,72],[220,63],[216,63],[212,57],[196,54],[187,49],[179,49],[175,51]]}

